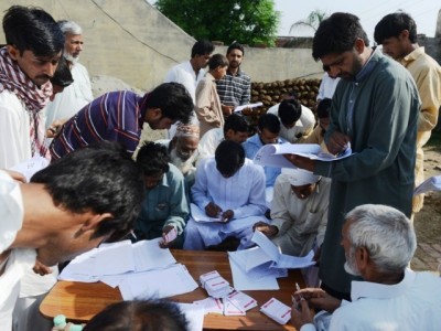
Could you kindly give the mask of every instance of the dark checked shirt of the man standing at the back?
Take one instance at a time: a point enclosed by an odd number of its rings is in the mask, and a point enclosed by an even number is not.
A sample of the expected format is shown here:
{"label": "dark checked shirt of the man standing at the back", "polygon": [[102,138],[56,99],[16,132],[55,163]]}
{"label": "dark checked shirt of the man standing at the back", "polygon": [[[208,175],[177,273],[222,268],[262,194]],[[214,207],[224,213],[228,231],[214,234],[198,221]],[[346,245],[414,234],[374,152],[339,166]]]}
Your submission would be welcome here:
{"label": "dark checked shirt of the man standing at the back", "polygon": [[220,103],[227,106],[248,105],[251,98],[251,78],[243,71],[234,76],[227,74],[216,82],[217,94]]}

